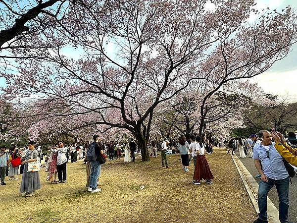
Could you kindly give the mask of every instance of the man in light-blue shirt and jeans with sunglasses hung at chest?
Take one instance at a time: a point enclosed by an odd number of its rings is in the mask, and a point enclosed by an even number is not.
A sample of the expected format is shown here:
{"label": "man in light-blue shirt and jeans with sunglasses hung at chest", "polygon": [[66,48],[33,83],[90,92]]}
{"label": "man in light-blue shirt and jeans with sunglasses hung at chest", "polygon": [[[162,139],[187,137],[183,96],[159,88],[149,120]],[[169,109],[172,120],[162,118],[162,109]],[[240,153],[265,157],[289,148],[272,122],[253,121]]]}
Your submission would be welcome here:
{"label": "man in light-blue shirt and jeans with sunglasses hung at chest", "polygon": [[[259,132],[260,143],[254,145],[253,159],[255,167],[261,174],[258,189],[258,219],[254,223],[267,223],[267,195],[275,185],[279,197],[279,220],[288,223],[289,210],[289,174],[283,158],[275,149],[275,143],[269,131]],[[261,164],[261,165],[260,165]]]}

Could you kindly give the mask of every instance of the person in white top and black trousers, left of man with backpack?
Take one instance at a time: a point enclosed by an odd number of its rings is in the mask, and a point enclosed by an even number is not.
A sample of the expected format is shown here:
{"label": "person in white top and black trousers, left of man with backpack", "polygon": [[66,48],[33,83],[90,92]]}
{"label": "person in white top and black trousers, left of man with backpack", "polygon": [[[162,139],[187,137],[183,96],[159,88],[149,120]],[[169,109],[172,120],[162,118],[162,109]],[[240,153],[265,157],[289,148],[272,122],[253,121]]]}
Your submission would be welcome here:
{"label": "person in white top and black trousers, left of man with backpack", "polygon": [[57,156],[57,172],[58,172],[58,182],[65,183],[67,181],[66,165],[67,165],[67,147],[64,147],[62,141],[59,142],[58,156]]}

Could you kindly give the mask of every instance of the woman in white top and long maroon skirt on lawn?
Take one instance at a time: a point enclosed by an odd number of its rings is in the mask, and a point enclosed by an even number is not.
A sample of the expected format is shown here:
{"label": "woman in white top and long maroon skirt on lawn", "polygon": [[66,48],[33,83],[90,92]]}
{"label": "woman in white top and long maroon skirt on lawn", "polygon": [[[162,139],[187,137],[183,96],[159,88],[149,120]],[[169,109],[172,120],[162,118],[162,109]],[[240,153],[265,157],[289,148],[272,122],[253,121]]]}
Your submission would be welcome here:
{"label": "woman in white top and long maroon skirt on lawn", "polygon": [[199,136],[197,136],[196,140],[198,142],[196,145],[197,161],[194,170],[193,183],[200,185],[200,180],[205,179],[205,183],[212,184],[211,179],[213,179],[213,175],[204,155],[204,145],[201,143],[201,138]]}

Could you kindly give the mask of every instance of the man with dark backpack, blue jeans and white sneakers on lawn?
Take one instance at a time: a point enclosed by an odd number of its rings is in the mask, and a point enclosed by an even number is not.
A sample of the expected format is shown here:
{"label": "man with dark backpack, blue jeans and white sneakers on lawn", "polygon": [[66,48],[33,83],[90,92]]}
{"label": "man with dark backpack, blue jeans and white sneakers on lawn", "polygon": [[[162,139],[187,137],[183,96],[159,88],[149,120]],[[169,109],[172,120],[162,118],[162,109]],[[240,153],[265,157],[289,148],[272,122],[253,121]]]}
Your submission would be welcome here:
{"label": "man with dark backpack, blue jeans and white sneakers on lawn", "polygon": [[[90,182],[88,191],[91,193],[97,193],[101,189],[97,188],[97,181],[100,177],[101,165],[99,163],[99,156],[103,154],[102,144],[99,143],[99,135],[93,136],[94,142],[90,144],[89,149],[94,146],[95,155],[97,157],[96,161],[90,161],[91,171],[90,171]],[[88,150],[89,150],[88,149]]]}

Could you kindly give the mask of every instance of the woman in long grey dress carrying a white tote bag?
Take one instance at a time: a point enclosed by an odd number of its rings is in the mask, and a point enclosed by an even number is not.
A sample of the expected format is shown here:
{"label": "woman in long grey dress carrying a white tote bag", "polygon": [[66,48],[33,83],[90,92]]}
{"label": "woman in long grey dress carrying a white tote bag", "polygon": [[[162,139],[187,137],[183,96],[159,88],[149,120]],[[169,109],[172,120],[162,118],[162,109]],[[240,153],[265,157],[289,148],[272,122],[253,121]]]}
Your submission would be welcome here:
{"label": "woman in long grey dress carrying a white tote bag", "polygon": [[[37,161],[38,152],[35,150],[36,142],[31,141],[28,143],[29,151],[24,157],[24,161],[22,164],[24,165],[24,172],[22,176],[22,182],[20,185],[20,193],[23,193],[26,197],[31,197],[35,195],[35,190],[40,189],[40,179],[39,179],[39,172],[27,172],[28,170],[28,163]],[[33,156],[32,156],[33,154]],[[32,157],[32,159],[31,159]]]}

